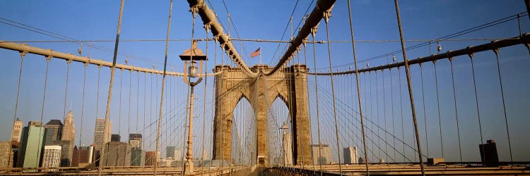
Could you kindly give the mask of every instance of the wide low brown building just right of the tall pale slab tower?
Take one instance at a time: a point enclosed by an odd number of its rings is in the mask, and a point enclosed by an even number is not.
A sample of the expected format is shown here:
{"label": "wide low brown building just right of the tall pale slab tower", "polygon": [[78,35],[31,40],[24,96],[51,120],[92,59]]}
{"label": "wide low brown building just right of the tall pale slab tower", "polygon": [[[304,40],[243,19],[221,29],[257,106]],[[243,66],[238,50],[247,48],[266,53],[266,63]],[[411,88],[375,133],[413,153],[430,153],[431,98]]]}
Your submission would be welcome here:
{"label": "wide low brown building just right of the tall pale slab tower", "polygon": [[129,166],[131,165],[131,146],[125,142],[107,142],[105,150],[101,153],[103,166]]}

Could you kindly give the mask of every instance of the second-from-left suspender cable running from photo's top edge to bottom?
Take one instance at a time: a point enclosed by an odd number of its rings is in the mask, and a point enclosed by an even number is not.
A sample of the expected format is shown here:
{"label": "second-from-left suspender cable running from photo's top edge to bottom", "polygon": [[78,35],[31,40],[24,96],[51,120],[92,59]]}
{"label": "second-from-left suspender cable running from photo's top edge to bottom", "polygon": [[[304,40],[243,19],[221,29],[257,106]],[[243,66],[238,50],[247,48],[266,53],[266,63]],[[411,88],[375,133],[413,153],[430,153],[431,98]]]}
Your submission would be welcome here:
{"label": "second-from-left suspender cable running from photo's top edge to bottom", "polygon": [[[165,39],[165,57],[164,57],[164,73],[162,75],[162,90],[160,91],[160,114],[158,115],[158,132],[156,135],[156,152],[158,153],[158,144],[160,144],[160,125],[162,120],[162,111],[163,111],[163,104],[164,104],[164,88],[165,88],[165,71],[167,68],[167,46],[169,46],[169,40],[170,40],[170,27],[171,27],[171,12],[173,10],[173,0],[170,1],[170,13],[169,17],[167,18],[167,34]],[[193,39],[193,37],[192,37]],[[138,115],[136,115],[138,117]],[[138,126],[138,125],[136,125]],[[155,156],[155,167],[153,169],[154,173],[153,175],[156,175],[156,168],[158,166],[158,155]]]}

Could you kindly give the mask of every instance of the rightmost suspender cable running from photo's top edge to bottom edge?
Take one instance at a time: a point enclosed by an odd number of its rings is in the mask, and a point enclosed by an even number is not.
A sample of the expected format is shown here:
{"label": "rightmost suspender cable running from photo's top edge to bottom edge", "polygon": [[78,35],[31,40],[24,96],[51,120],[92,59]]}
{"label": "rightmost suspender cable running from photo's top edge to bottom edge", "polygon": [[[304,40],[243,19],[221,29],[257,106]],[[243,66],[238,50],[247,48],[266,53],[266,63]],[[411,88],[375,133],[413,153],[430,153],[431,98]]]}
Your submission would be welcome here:
{"label": "rightmost suspender cable running from photo's top edge to bottom edge", "polygon": [[397,17],[398,26],[399,26],[399,37],[401,39],[401,53],[403,54],[403,59],[405,61],[405,72],[406,72],[406,77],[407,77],[408,96],[411,100],[412,119],[413,119],[413,125],[414,125],[414,134],[416,134],[416,146],[418,146],[418,157],[420,158],[421,175],[425,175],[425,168],[423,166],[423,157],[421,156],[420,134],[418,134],[418,120],[416,120],[416,110],[414,107],[414,98],[412,94],[411,73],[410,73],[410,68],[408,68],[408,59],[407,59],[406,50],[405,50],[405,42],[403,41],[404,37],[403,37],[403,30],[401,29],[401,17],[399,15],[398,0],[394,0],[394,4],[396,6],[396,17]]}

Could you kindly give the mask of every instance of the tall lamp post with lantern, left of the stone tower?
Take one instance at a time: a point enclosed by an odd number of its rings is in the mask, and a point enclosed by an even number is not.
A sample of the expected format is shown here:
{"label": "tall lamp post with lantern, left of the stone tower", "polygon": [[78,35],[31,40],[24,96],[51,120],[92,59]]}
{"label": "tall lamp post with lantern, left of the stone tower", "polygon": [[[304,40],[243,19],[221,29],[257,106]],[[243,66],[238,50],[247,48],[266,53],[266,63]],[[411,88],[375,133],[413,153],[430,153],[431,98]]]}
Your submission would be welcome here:
{"label": "tall lamp post with lantern, left of the stone tower", "polygon": [[[184,174],[185,175],[193,175],[194,169],[193,169],[193,101],[194,101],[194,87],[199,84],[202,81],[202,76],[199,75],[197,72],[199,68],[197,68],[196,61],[200,61],[200,73],[202,73],[202,63],[203,61],[208,61],[208,58],[206,58],[206,55],[202,53],[201,49],[197,49],[197,41],[193,41],[192,49],[187,49],[184,51],[183,54],[179,56],[179,58],[184,61],[184,77],[182,79],[186,84],[190,86],[190,94],[189,94],[189,127],[188,127],[188,149],[186,153],[186,163],[184,163]],[[188,61],[190,61],[192,64],[189,65],[189,68],[187,68]],[[189,73],[189,75],[188,75]],[[198,77],[198,80],[196,82],[192,82],[192,78]]]}

